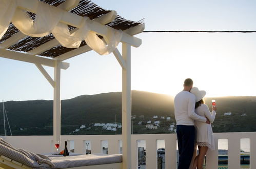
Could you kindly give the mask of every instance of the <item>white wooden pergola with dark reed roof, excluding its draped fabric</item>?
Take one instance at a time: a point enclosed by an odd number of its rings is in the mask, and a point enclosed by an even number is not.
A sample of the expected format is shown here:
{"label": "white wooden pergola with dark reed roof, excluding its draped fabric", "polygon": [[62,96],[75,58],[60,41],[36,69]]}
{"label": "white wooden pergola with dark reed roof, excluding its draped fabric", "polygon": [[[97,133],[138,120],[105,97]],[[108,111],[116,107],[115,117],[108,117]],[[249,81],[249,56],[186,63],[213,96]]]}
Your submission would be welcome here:
{"label": "white wooden pergola with dark reed roof, excluding its draped fabric", "polygon": [[[2,1],[2,0],[0,0]],[[3,0],[4,1],[4,0]],[[18,0],[17,8],[31,12],[31,15],[37,13],[37,6],[46,0]],[[113,29],[122,30],[122,54],[117,48],[112,53],[122,67],[122,135],[123,135],[123,168],[131,168],[131,46],[139,47],[142,40],[133,35],[143,32],[144,24],[127,21],[117,16],[115,11],[106,11],[95,6],[88,0],[48,0],[49,8],[58,8],[64,14],[60,20],[61,23],[70,27],[70,33],[82,29],[81,23],[83,16],[90,15],[90,31],[102,36],[102,40],[108,44],[107,33]],[[83,5],[87,8],[94,8],[95,13],[86,11],[81,13],[82,16],[72,13],[83,10]],[[92,11],[93,11],[92,10]],[[40,70],[44,77],[53,87],[53,141],[61,141],[61,69],[69,67],[68,62],[64,62],[71,57],[91,51],[92,49],[82,41],[77,49],[62,47],[60,43],[50,34],[42,38],[30,38],[16,28],[9,26],[7,35],[0,39],[0,57],[30,62]],[[1,33],[1,32],[0,32]],[[45,38],[45,39],[43,39]],[[43,39],[43,40],[42,40]],[[35,43],[34,43],[35,41]],[[35,44],[35,45],[34,45]],[[31,45],[31,46],[28,46]],[[33,45],[33,46],[32,46]],[[29,50],[27,50],[29,49]],[[63,49],[63,50],[62,50]],[[51,55],[52,54],[52,55]],[[46,56],[46,57],[42,57]],[[50,58],[49,58],[50,57]],[[52,78],[43,66],[54,68],[54,77]]]}

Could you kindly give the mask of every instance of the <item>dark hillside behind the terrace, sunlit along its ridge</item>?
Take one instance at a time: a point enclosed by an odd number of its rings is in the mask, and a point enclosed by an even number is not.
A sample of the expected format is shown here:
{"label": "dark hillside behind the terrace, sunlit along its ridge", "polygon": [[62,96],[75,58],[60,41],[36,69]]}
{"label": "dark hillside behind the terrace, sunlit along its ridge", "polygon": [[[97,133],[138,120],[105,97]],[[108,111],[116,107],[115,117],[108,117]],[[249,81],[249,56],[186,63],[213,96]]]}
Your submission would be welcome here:
{"label": "dark hillside behind the terrace, sunlit along its ridge", "polygon": [[[94,123],[115,122],[115,116],[116,122],[121,122],[121,95],[121,92],[102,93],[62,100],[62,134],[70,134],[82,124],[89,126]],[[256,125],[253,121],[256,117],[256,97],[220,97],[214,99],[218,107],[218,114],[213,123],[214,132],[256,131]],[[206,98],[205,101],[208,105],[211,104],[211,98]],[[52,100],[7,101],[5,107],[13,135],[52,135]],[[232,112],[232,115],[223,116],[224,112]],[[0,110],[0,113],[0,135],[3,135],[3,110]],[[247,116],[241,117],[242,113],[246,113]],[[143,120],[134,119],[135,123],[150,120],[153,115],[170,116],[174,120],[173,114],[173,98],[171,96],[132,91],[132,115],[144,115]],[[162,126],[164,125],[166,128],[154,132],[168,133],[165,130],[167,130],[169,123],[165,121]],[[134,126],[134,130],[134,133],[138,134],[152,132],[145,129],[143,131],[142,128],[136,128],[136,126]],[[80,132],[78,134],[85,133]]]}

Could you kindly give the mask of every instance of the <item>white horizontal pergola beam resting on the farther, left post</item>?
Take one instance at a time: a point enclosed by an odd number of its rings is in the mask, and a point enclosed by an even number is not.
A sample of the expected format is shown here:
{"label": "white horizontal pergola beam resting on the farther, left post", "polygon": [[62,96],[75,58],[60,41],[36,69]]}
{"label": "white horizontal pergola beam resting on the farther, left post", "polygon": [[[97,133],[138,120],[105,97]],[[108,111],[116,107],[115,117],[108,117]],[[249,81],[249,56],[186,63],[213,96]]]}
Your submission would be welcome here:
{"label": "white horizontal pergola beam resting on the farther, left post", "polygon": [[[53,59],[47,59],[43,57],[38,56],[31,56],[25,53],[20,52],[14,52],[6,49],[0,49],[0,57],[8,58],[8,59],[14,59],[19,61],[26,61],[32,64],[42,64],[49,67],[55,66],[55,60]],[[68,69],[69,63],[67,62],[61,62],[61,69]]]}

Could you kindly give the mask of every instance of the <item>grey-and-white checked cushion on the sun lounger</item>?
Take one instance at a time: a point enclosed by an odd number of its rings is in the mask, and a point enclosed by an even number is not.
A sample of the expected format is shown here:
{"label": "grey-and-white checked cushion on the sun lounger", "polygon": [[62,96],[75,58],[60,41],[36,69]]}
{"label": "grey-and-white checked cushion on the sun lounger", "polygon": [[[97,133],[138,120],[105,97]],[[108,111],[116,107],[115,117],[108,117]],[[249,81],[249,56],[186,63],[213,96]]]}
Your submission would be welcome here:
{"label": "grey-and-white checked cushion on the sun lounger", "polygon": [[0,138],[0,155],[4,155],[32,168],[69,168],[122,162],[122,154],[47,157],[24,149],[17,149],[2,138]]}

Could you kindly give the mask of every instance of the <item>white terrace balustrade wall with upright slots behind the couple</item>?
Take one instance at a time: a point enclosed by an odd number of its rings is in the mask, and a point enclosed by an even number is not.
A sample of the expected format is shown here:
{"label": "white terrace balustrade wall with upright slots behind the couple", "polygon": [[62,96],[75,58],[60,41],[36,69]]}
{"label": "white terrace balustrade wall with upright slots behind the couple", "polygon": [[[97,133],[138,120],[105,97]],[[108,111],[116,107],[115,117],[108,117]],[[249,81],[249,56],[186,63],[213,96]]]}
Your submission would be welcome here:
{"label": "white terrace balustrade wall with upright slots behind the couple", "polygon": [[[256,132],[213,133],[215,151],[208,151],[206,157],[207,169],[218,168],[218,140],[228,139],[228,168],[240,168],[240,139],[250,139],[250,168],[256,168]],[[15,147],[35,153],[51,153],[53,136],[0,136]],[[102,153],[102,140],[108,140],[109,154],[120,153],[119,140],[122,135],[83,135],[61,136],[61,147],[65,140],[74,140],[74,151],[85,154],[85,140],[91,141],[91,152]],[[132,168],[137,168],[137,140],[146,141],[146,168],[155,169],[157,156],[157,140],[165,140],[165,168],[176,168],[176,134],[145,134],[132,135]]]}

